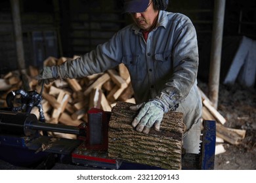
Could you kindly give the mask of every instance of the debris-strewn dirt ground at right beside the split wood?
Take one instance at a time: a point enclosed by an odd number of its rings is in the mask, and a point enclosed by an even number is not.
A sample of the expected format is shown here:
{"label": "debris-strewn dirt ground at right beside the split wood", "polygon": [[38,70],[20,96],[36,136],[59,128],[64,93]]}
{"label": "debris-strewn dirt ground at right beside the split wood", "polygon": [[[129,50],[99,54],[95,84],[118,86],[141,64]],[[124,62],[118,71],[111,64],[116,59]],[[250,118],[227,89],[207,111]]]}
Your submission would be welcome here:
{"label": "debris-strewn dirt ground at right beside the split wood", "polygon": [[[207,85],[198,86],[207,93]],[[220,85],[218,111],[226,118],[226,127],[245,129],[239,145],[224,142],[226,152],[215,156],[215,169],[256,170],[256,90],[234,84]]]}

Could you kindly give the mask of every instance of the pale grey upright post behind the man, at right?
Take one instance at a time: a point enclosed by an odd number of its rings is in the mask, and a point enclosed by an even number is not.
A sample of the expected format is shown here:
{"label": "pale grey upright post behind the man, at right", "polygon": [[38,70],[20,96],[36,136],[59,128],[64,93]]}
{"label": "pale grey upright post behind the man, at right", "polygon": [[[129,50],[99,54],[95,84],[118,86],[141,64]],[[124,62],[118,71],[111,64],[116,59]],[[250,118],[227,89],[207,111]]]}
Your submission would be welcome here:
{"label": "pale grey upright post behind the man, at right", "polygon": [[214,108],[218,107],[219,99],[219,78],[221,71],[221,49],[223,43],[225,3],[225,0],[215,0],[209,71],[209,99],[213,103]]}

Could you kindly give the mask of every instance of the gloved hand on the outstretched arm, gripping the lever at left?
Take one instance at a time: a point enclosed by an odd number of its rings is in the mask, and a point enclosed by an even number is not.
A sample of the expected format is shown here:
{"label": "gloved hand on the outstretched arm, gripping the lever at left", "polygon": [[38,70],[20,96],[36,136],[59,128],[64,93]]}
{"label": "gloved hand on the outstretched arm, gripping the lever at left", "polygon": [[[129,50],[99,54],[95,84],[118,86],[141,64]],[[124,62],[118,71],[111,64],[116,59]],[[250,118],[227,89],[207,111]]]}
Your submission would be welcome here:
{"label": "gloved hand on the outstretched arm, gripping the lever at left", "polygon": [[41,84],[45,80],[45,84],[49,84],[58,78],[58,70],[56,66],[53,67],[44,67],[39,75],[35,76],[35,79],[38,80],[38,83]]}

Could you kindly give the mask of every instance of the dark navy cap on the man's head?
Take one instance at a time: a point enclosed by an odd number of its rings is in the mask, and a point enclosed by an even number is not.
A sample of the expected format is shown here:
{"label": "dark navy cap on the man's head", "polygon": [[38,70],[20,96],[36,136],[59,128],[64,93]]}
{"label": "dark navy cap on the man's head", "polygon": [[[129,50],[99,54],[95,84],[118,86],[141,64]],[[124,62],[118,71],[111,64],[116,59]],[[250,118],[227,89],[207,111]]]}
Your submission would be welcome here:
{"label": "dark navy cap on the man's head", "polygon": [[124,12],[144,12],[150,0],[124,0]]}

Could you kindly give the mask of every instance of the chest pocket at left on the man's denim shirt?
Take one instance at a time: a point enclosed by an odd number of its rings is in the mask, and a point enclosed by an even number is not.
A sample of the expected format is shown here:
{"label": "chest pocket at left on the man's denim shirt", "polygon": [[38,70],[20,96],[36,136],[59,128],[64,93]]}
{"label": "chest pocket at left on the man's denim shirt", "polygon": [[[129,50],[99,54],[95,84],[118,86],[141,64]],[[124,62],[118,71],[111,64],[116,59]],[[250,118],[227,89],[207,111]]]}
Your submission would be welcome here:
{"label": "chest pocket at left on the man's denim shirt", "polygon": [[140,63],[140,56],[139,55],[127,55],[123,56],[122,62],[127,67],[131,80],[140,81],[143,78],[143,69]]}

